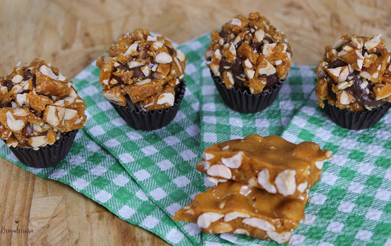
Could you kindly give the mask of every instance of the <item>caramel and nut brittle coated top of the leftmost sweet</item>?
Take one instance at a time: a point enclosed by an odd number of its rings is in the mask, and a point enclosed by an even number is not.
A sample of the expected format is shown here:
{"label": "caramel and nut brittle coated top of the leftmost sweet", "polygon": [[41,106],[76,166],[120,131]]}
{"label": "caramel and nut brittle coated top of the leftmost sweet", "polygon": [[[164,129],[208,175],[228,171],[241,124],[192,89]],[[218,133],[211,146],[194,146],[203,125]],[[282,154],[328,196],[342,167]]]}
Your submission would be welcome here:
{"label": "caramel and nut brittle coated top of the leftmost sweet", "polygon": [[38,148],[82,129],[87,105],[57,67],[34,59],[0,77],[0,137],[8,147]]}

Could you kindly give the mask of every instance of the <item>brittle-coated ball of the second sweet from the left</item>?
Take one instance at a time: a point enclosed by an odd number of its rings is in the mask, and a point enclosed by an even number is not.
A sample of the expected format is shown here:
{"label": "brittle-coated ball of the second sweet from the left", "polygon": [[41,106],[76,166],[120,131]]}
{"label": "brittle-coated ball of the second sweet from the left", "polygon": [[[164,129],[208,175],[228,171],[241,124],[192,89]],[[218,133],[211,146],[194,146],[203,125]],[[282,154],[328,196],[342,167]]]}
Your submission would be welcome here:
{"label": "brittle-coated ball of the second sweet from the left", "polygon": [[144,110],[174,105],[175,89],[183,80],[187,57],[164,36],[145,29],[124,34],[96,61],[101,69],[102,95],[112,103],[138,104]]}

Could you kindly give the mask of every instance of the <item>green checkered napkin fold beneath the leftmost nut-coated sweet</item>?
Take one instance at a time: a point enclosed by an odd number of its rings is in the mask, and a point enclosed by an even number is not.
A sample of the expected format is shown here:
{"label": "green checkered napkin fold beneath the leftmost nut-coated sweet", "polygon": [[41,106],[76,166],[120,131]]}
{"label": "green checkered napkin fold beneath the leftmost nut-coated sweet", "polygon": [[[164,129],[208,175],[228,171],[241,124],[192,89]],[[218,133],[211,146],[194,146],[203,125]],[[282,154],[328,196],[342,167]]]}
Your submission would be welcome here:
{"label": "green checkered napkin fold beneath the leftmost nut-coated sweet", "polygon": [[119,162],[79,131],[69,154],[50,168],[23,165],[0,141],[0,157],[44,179],[58,180],[102,204],[130,224],[139,225],[174,245],[189,246],[177,226],[145,195]]}

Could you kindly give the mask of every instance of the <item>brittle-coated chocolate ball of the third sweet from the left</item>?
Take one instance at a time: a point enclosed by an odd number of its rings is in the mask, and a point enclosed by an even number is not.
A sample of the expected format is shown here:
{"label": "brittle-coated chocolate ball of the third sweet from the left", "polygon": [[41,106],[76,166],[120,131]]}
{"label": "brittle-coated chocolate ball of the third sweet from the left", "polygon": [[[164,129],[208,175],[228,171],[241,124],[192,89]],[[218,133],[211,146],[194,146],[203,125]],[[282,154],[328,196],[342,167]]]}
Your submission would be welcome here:
{"label": "brittle-coated chocolate ball of the third sweet from the left", "polygon": [[205,59],[227,89],[259,94],[286,78],[292,51],[283,32],[265,17],[237,15],[221,29],[212,31]]}

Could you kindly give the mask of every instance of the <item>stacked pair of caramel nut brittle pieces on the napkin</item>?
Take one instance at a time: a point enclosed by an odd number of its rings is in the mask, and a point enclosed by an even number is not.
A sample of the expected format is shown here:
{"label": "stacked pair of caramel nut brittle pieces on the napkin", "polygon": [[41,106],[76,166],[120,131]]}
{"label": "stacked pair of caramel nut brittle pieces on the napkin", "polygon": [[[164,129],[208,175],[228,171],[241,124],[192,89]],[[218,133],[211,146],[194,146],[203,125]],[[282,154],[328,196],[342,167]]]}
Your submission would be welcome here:
{"label": "stacked pair of caramel nut brittle pieces on the napkin", "polygon": [[204,150],[196,169],[217,185],[177,211],[176,221],[197,223],[205,233],[233,233],[289,241],[304,220],[309,188],[332,158],[313,142],[249,135]]}

